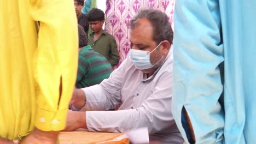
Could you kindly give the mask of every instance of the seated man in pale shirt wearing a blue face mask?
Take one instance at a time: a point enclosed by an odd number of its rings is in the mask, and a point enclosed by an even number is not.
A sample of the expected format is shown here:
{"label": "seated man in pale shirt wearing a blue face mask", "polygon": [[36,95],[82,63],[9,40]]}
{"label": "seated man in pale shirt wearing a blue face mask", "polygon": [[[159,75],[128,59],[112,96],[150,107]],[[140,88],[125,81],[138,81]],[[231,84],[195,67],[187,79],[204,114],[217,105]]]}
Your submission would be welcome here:
{"label": "seated man in pale shirt wearing a blue face mask", "polygon": [[[130,56],[100,85],[74,90],[70,103],[74,111],[68,112],[66,131],[123,133],[147,127],[150,141],[183,143],[171,113],[169,19],[159,10],[142,9],[130,28]],[[119,104],[117,111],[107,111]]]}

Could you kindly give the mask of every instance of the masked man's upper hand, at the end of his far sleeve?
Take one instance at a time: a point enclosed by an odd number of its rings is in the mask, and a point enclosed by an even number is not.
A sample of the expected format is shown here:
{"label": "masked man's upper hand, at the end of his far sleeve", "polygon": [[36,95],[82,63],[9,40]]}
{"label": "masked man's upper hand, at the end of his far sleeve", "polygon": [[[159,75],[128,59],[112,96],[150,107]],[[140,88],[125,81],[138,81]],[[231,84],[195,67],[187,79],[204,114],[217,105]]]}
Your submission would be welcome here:
{"label": "masked man's upper hand, at the end of his far sleeve", "polygon": [[82,89],[75,88],[69,105],[83,107],[86,103],[85,93]]}

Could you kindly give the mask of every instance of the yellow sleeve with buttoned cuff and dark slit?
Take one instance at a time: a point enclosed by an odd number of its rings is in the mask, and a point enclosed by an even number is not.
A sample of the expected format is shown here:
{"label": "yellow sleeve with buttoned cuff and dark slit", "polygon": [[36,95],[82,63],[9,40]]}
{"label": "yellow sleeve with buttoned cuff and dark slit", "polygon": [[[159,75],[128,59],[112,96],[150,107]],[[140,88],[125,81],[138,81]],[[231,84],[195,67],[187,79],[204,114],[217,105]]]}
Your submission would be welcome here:
{"label": "yellow sleeve with buttoned cuff and dark slit", "polygon": [[31,0],[30,14],[34,21],[40,21],[34,57],[38,86],[35,126],[44,131],[62,130],[77,74],[78,28],[74,4]]}

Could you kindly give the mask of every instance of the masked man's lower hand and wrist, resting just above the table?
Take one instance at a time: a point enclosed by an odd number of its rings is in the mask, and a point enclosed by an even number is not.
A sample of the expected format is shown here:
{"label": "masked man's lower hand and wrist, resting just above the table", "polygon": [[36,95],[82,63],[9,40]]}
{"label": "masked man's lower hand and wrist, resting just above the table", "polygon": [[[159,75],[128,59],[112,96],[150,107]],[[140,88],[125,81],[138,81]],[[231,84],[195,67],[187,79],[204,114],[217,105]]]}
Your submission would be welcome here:
{"label": "masked man's lower hand and wrist, resting just above the table", "polygon": [[74,131],[79,128],[87,129],[86,112],[68,110],[66,128],[63,131]]}

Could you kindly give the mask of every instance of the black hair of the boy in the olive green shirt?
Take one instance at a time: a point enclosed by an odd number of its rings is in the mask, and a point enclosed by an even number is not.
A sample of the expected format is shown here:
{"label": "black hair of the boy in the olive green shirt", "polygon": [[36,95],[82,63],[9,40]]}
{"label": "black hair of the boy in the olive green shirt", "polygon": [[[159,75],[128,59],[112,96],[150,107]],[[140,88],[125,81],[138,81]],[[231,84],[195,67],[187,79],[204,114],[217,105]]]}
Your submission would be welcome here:
{"label": "black hair of the boy in the olive green shirt", "polygon": [[101,9],[92,8],[87,14],[88,21],[102,21],[105,20],[105,14]]}

